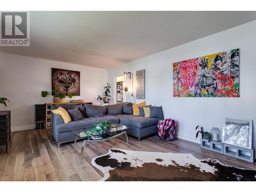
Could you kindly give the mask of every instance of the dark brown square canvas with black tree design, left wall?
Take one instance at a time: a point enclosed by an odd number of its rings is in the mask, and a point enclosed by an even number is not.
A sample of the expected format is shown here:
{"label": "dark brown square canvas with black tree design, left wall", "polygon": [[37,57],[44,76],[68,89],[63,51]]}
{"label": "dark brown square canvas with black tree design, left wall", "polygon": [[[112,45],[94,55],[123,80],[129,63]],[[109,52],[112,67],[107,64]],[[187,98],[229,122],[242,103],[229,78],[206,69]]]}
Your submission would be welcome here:
{"label": "dark brown square canvas with black tree design, left wall", "polygon": [[80,95],[80,72],[52,68],[52,90],[59,94]]}

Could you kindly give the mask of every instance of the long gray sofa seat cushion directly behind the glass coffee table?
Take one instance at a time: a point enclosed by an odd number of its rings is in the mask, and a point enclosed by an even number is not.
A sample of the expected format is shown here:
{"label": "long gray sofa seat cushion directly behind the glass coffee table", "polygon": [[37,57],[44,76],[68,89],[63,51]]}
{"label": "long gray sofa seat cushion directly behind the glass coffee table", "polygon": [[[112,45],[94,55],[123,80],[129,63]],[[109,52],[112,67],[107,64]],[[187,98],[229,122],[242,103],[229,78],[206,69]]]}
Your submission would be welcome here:
{"label": "long gray sofa seat cushion directly behind the glass coffee table", "polygon": [[88,117],[81,119],[79,121],[72,121],[68,124],[58,124],[57,125],[57,133],[70,132],[72,130],[79,130],[88,128],[88,130],[93,129],[95,127],[94,123],[96,121],[104,121],[108,120],[111,123],[119,123],[119,119],[114,116],[106,115],[101,117]]}

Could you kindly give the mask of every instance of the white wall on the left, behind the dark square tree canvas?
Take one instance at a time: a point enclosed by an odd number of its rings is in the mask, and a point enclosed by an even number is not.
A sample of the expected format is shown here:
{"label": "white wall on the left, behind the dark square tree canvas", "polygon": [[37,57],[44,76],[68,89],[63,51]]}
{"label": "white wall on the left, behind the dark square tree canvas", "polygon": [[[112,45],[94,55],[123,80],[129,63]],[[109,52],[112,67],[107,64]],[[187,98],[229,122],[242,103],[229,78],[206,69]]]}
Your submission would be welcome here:
{"label": "white wall on the left, behind the dark square tree canvas", "polygon": [[0,111],[11,110],[12,131],[34,129],[35,104],[52,102],[52,96],[40,95],[43,90],[51,90],[51,68],[80,71],[80,96],[73,99],[94,103],[102,94],[108,76],[105,69],[0,53],[0,97],[11,101],[7,108],[0,105]]}

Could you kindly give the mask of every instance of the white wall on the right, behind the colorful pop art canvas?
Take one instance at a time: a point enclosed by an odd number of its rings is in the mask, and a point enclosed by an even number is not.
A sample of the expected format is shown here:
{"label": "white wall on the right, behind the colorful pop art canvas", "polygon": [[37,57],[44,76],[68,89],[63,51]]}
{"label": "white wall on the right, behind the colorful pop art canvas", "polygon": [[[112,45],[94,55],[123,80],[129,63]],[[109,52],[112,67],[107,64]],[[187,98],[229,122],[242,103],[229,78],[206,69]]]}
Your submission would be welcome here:
{"label": "white wall on the right, behind the colorful pop art canvas", "polygon": [[[170,34],[169,38],[174,37]],[[174,62],[236,48],[240,49],[240,98],[173,97]],[[145,69],[146,103],[163,106],[164,116],[176,120],[179,138],[199,143],[200,140],[195,139],[198,124],[209,131],[212,126],[222,127],[224,117],[253,119],[253,147],[256,148],[255,55],[256,20],[109,69],[108,81],[113,82],[113,77],[124,71],[135,74],[137,70]],[[127,96],[127,101],[134,99]]]}

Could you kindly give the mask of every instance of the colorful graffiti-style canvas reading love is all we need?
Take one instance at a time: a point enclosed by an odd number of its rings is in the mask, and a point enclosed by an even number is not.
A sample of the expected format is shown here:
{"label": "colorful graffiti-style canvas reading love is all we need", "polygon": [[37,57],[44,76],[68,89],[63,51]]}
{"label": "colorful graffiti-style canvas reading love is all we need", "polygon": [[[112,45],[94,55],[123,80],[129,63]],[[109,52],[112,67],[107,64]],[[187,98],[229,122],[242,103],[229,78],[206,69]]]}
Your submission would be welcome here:
{"label": "colorful graffiti-style canvas reading love is all we need", "polygon": [[239,97],[239,49],[173,63],[174,97]]}

